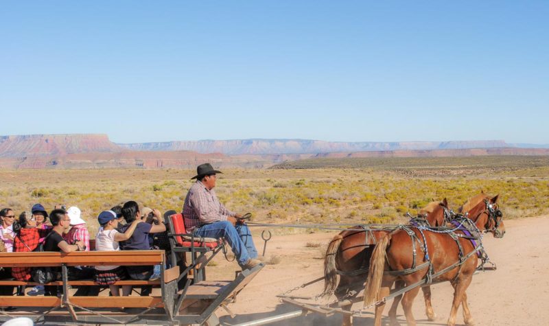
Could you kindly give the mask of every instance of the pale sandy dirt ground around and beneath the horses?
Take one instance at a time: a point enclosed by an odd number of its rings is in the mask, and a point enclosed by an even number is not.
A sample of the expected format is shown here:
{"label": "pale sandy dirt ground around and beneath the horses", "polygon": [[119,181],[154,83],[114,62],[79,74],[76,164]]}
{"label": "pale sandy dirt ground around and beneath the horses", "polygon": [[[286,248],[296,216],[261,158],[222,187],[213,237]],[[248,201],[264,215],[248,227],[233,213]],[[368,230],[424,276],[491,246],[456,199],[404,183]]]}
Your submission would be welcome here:
{"label": "pale sandy dirt ground around and beneath the horses", "polygon": [[[506,235],[495,239],[484,237],[491,260],[498,270],[480,272],[474,275],[467,290],[469,307],[476,325],[548,325],[549,320],[549,216],[505,221]],[[216,312],[224,325],[236,325],[298,308],[281,303],[276,297],[296,286],[312,281],[323,275],[323,254],[327,242],[336,233],[314,233],[301,235],[280,235],[272,237],[266,248],[266,261],[278,264],[267,265],[259,275],[239,294],[237,302],[229,308],[237,314],[231,318],[223,309]],[[263,240],[255,238],[259,254],[263,250]],[[314,244],[321,244],[314,247]],[[222,255],[216,257],[215,264],[208,268],[208,279],[231,279],[235,262],[225,261]],[[545,276],[544,276],[545,275]],[[315,296],[321,292],[323,281],[296,290],[292,294]],[[414,316],[418,325],[446,325],[452,302],[453,290],[449,283],[432,286],[433,305],[438,318],[427,321],[424,312],[423,296],[414,301]],[[319,300],[318,303],[333,301]],[[359,310],[357,303],[353,310]],[[386,316],[388,307],[384,312]],[[406,319],[399,307],[399,321],[406,325]],[[355,325],[372,325],[373,316],[364,314],[353,319]],[[324,317],[307,314],[292,320],[272,325],[340,325],[341,316]],[[388,318],[384,318],[388,323]],[[458,312],[457,323],[463,325],[463,314]]]}

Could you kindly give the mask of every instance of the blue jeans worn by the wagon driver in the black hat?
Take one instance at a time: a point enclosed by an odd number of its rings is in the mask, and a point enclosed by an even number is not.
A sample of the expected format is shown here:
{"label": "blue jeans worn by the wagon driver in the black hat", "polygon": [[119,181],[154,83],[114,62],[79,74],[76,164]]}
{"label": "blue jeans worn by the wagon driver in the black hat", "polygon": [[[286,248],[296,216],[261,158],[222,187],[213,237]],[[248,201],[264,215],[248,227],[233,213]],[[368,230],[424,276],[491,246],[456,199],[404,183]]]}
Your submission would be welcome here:
{"label": "blue jeans worn by the wagon driver in the black hat", "polygon": [[246,224],[233,226],[229,221],[213,222],[198,227],[194,231],[198,237],[224,237],[229,243],[238,264],[244,265],[250,258],[257,257],[257,250],[253,244],[250,228]]}

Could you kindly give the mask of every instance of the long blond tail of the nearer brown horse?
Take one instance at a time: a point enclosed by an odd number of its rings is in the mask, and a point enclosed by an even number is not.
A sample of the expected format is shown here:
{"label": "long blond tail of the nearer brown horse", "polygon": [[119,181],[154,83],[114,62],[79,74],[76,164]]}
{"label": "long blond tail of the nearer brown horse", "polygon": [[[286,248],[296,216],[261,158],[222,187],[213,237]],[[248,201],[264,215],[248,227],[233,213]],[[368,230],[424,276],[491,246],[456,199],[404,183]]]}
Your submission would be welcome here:
{"label": "long blond tail of the nearer brown horse", "polygon": [[382,287],[386,251],[390,238],[390,234],[384,236],[373,249],[370,259],[370,270],[366,279],[366,288],[364,288],[364,305],[372,305],[377,300],[377,293],[379,293],[379,289]]}

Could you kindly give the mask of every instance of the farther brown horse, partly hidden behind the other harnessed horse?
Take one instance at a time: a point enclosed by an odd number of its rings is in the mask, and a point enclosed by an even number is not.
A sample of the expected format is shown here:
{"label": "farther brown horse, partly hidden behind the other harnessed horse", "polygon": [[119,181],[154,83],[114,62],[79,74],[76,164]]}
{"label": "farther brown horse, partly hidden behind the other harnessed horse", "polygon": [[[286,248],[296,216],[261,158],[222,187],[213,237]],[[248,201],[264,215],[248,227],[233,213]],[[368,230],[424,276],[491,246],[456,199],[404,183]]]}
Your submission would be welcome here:
{"label": "farther brown horse, partly hidden behind the other harnessed horse", "polygon": [[[425,216],[430,226],[442,226],[449,220],[448,202],[446,198],[442,202],[430,202],[419,211],[419,214]],[[412,224],[417,223],[413,220],[410,221]],[[370,257],[375,244],[393,229],[395,229],[394,226],[380,229],[355,226],[336,235],[331,240],[325,255],[323,294],[329,295],[334,292],[340,303],[355,297],[364,288],[364,279],[369,270]],[[340,275],[339,283],[337,275]],[[429,287],[423,288],[423,296],[427,316],[430,320],[434,320],[436,315],[432,310]],[[347,301],[347,304],[343,304],[342,307],[350,310],[351,305],[352,302]],[[398,300],[395,299],[389,313],[395,318],[397,306]],[[352,325],[351,316],[344,316],[343,325]]]}

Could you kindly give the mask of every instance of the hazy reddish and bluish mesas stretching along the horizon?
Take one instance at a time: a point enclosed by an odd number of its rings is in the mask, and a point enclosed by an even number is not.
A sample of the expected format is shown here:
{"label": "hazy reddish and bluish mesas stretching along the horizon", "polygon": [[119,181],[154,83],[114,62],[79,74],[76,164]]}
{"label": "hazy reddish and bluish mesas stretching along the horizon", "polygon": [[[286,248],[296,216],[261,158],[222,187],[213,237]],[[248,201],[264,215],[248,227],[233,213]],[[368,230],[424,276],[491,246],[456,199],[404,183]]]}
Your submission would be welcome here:
{"label": "hazy reddish and bluish mesas stretching along the horizon", "polygon": [[269,167],[285,161],[343,157],[549,155],[549,145],[491,141],[336,142],[234,139],[113,143],[102,134],[0,136],[0,168]]}

